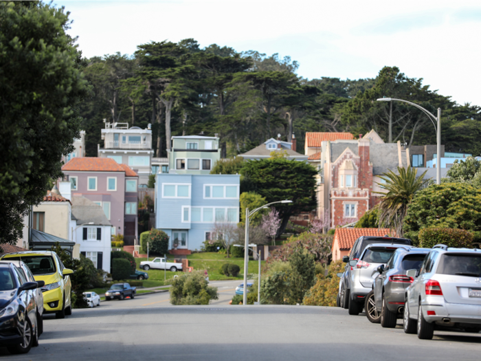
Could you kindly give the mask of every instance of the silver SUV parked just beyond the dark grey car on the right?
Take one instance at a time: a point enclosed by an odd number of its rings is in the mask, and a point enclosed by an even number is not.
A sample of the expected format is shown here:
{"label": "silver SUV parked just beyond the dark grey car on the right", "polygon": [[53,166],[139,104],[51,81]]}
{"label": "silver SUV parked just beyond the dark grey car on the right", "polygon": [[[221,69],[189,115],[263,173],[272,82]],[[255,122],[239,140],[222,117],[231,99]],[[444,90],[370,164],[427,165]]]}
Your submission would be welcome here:
{"label": "silver SUV parked just beyond the dark grey car on the right", "polygon": [[353,267],[350,271],[350,298],[348,299],[348,312],[350,315],[358,315],[366,300],[366,296],[372,291],[374,278],[379,275],[377,268],[385,265],[397,248],[409,248],[407,245],[372,243],[366,246],[359,256],[359,260],[349,261]]}

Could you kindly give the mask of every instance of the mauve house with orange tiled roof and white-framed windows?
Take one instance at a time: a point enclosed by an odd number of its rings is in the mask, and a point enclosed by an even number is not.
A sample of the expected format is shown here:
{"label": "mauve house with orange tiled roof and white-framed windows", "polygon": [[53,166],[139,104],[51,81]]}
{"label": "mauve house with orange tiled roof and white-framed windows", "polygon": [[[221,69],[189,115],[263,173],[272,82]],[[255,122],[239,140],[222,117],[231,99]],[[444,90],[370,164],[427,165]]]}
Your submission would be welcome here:
{"label": "mauve house with orange tiled roof and white-framed windows", "polygon": [[126,164],[109,157],[73,158],[62,167],[73,197],[98,204],[110,221],[111,234],[124,234],[125,245],[137,239],[137,187],[139,177]]}

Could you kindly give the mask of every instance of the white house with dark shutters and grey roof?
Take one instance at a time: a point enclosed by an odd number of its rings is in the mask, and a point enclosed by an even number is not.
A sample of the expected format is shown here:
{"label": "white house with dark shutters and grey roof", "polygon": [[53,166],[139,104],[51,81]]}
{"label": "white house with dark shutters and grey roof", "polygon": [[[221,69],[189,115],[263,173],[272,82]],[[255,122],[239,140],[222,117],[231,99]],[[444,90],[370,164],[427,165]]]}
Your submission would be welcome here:
{"label": "white house with dark shutters and grey roof", "polygon": [[85,197],[71,197],[76,219],[74,241],[80,254],[90,259],[98,270],[110,273],[112,225],[102,207]]}

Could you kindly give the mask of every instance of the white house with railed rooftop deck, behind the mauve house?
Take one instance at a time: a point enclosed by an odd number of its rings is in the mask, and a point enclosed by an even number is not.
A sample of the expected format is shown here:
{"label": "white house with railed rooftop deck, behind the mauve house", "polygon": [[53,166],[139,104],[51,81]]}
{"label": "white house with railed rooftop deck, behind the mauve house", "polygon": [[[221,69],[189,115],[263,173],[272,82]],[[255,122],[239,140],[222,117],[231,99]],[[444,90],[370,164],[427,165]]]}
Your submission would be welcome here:
{"label": "white house with railed rooftop deck, behind the mauve house", "polygon": [[[104,121],[105,122],[105,121]],[[105,122],[102,129],[104,148],[98,145],[98,157],[107,157],[118,164],[126,164],[139,176],[139,185],[148,184],[151,174],[150,162],[152,150],[152,130],[150,124],[147,129],[128,127],[128,123]]]}

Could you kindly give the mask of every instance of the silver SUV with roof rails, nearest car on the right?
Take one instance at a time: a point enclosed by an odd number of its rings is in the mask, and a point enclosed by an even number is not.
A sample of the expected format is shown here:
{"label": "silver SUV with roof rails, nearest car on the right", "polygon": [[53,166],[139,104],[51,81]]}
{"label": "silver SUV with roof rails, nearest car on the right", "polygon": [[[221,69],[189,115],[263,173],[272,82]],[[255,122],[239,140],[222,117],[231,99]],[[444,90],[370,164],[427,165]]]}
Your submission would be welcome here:
{"label": "silver SUV with roof rails, nearest car on the right", "polygon": [[406,289],[405,333],[433,338],[434,325],[481,331],[481,250],[435,245]]}

